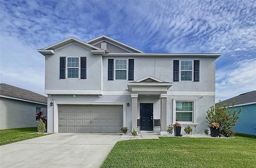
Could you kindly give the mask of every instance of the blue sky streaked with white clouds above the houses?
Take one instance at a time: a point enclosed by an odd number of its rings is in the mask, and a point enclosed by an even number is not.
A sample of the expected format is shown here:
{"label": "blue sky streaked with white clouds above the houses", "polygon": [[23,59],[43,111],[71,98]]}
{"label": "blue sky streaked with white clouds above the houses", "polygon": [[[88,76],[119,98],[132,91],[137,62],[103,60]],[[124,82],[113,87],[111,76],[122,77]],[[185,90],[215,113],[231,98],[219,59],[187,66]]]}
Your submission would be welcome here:
{"label": "blue sky streaked with white clouds above the houses", "polygon": [[256,1],[0,1],[0,82],[44,95],[36,50],[107,35],[147,53],[222,53],[216,102],[256,90]]}

